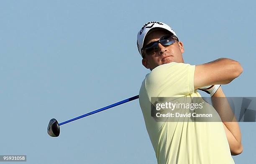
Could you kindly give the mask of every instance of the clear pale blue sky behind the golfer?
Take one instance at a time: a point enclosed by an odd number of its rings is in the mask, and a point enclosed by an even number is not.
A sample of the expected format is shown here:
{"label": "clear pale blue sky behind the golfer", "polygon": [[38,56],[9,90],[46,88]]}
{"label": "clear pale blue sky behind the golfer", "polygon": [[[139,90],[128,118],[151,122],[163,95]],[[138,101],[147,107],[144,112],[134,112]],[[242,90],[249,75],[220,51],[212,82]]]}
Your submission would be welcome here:
{"label": "clear pale blue sky behind the golfer", "polygon": [[[146,70],[136,47],[148,21],[170,25],[192,65],[228,57],[243,74],[223,91],[255,97],[256,2],[34,1],[0,5],[0,155],[25,154],[28,164],[156,164],[138,100],[61,126],[73,117],[138,94]],[[202,94],[205,95],[205,94]],[[254,164],[256,123],[240,123]]]}

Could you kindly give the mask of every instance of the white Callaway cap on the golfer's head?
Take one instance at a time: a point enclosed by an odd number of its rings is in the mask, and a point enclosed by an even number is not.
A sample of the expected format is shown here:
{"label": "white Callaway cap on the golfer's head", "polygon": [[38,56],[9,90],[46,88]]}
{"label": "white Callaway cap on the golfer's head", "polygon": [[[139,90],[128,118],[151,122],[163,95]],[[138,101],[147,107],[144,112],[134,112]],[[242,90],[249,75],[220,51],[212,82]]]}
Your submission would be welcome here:
{"label": "white Callaway cap on the golfer's head", "polygon": [[143,42],[145,40],[145,37],[146,37],[147,33],[154,28],[163,28],[169,32],[172,32],[172,34],[177,37],[176,33],[174,32],[174,30],[172,30],[172,28],[170,26],[168,26],[162,22],[147,22],[145,25],[143,25],[143,27],[141,28],[141,30],[138,32],[138,35],[137,35],[137,47],[138,47],[138,51],[140,52],[141,57],[142,57],[141,49],[143,47]]}

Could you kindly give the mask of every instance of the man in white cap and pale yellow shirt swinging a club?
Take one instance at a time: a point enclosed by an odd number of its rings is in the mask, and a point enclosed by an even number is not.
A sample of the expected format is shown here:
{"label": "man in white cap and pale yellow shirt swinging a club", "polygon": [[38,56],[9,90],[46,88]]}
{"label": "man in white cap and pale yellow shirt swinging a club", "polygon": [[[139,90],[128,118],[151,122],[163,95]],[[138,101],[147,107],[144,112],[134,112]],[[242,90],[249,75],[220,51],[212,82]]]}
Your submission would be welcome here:
{"label": "man in white cap and pale yellow shirt swinging a club", "polygon": [[[201,97],[196,89],[212,98],[225,97],[220,84],[238,77],[241,65],[227,58],[185,64],[183,43],[162,22],[146,23],[138,32],[137,46],[143,66],[151,70],[142,82],[139,102],[158,164],[233,164],[231,155],[243,150],[235,118],[230,122],[158,122],[151,117],[151,97]],[[218,100],[212,100],[212,105],[216,110],[230,110]]]}

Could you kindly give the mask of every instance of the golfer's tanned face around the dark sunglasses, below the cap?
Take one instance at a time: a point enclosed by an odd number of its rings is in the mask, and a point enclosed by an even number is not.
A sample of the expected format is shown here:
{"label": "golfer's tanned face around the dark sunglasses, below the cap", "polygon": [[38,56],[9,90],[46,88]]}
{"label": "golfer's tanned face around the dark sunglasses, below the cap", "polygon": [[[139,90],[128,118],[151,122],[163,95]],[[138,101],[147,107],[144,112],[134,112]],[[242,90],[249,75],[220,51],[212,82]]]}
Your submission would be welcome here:
{"label": "golfer's tanned face around the dark sunglasses, below the cap", "polygon": [[[158,41],[161,37],[168,35],[167,32],[162,30],[155,30],[146,36],[143,45],[148,45],[151,42]],[[169,46],[163,46],[158,43],[158,50],[151,55],[143,53],[144,58],[142,64],[147,69],[153,70],[155,67],[170,63],[170,62],[183,62],[182,53],[184,53],[183,43],[175,41],[174,44]]]}

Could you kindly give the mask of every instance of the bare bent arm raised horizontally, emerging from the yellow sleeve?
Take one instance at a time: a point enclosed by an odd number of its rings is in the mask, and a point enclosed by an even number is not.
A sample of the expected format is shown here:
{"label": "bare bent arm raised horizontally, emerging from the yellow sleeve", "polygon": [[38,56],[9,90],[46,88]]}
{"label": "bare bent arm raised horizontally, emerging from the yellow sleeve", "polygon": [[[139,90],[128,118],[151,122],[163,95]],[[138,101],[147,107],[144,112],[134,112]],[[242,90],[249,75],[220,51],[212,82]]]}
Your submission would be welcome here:
{"label": "bare bent arm raised horizontally, emerging from the yellow sleeve", "polygon": [[214,84],[228,84],[243,72],[239,62],[220,58],[195,66],[194,87],[198,89]]}

